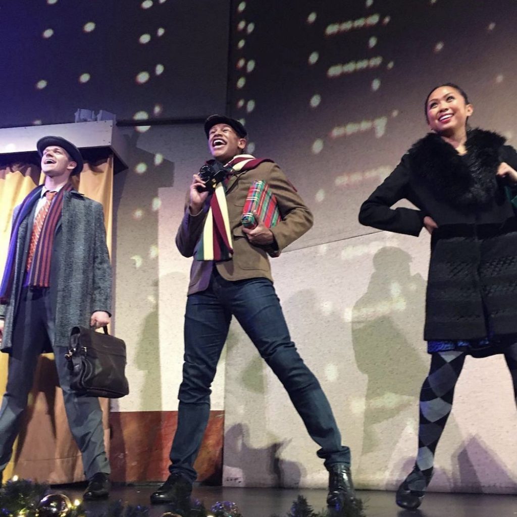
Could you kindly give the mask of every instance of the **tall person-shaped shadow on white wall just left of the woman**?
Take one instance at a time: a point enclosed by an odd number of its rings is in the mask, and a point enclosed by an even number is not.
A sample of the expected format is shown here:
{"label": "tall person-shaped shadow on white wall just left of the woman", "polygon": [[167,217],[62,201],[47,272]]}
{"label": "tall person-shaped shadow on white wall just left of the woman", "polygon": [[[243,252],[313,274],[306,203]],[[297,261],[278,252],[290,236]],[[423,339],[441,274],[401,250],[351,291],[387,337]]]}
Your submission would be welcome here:
{"label": "tall person-shaped shadow on white wall just left of the woman", "polygon": [[[419,392],[429,360],[422,342],[425,281],[419,273],[411,274],[411,260],[409,253],[400,248],[379,250],[373,257],[374,272],[368,290],[352,313],[357,367],[368,376],[357,475],[367,485],[383,483],[372,477],[380,472],[379,465],[384,473],[393,451],[400,451],[399,442],[401,436],[407,435],[408,421],[412,422],[410,435],[418,431]],[[389,432],[383,432],[386,420],[390,420]],[[460,435],[452,417],[447,425],[447,432],[451,431]],[[410,450],[416,454],[417,448],[415,436]],[[414,462],[414,456],[394,458],[396,468],[389,474],[386,488],[396,488]],[[439,473],[440,478],[444,475]]]}

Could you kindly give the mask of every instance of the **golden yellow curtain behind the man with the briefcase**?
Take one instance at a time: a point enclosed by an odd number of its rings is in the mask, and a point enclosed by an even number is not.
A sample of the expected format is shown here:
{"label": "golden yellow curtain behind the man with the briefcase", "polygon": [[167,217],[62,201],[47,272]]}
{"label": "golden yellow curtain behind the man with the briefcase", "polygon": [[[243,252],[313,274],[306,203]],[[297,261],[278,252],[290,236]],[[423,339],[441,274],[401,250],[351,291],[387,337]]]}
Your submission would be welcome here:
{"label": "golden yellow curtain behind the man with the briefcase", "polygon": [[[0,274],[7,256],[12,211],[23,198],[43,183],[40,168],[27,163],[0,163]],[[74,187],[102,204],[111,254],[113,220],[113,155],[86,161],[83,172],[73,176]],[[5,391],[7,354],[0,354],[0,394]],[[109,401],[100,399],[104,420],[104,443],[109,453]],[[84,479],[81,455],[66,424],[63,396],[58,389],[53,354],[44,354],[38,363],[24,424],[15,444],[4,480],[16,474],[50,483]]]}

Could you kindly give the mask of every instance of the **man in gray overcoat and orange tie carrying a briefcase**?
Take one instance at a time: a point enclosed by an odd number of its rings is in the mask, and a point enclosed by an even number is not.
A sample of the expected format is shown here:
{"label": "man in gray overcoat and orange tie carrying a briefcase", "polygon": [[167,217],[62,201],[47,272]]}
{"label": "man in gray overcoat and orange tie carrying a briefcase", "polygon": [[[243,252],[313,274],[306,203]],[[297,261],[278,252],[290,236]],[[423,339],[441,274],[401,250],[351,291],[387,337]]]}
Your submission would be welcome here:
{"label": "man in gray overcoat and orange tie carrying a briefcase", "polygon": [[0,408],[0,475],[20,431],[38,356],[54,352],[68,423],[89,480],[84,498],[98,499],[109,495],[110,474],[102,410],[97,398],[71,391],[65,353],[73,326],[110,323],[112,273],[102,205],[70,183],[83,169],[77,147],[45,136],[37,149],[45,182],[14,210],[0,285],[0,349],[9,354]]}

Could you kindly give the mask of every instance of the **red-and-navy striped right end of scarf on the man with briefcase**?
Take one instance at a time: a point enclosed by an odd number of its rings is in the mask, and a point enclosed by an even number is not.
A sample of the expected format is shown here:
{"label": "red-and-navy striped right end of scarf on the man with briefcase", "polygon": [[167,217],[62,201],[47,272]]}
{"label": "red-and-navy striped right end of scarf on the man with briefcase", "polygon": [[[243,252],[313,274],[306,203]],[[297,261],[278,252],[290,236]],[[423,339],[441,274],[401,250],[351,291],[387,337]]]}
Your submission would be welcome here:
{"label": "red-and-navy striped right end of scarf on the man with briefcase", "polygon": [[50,285],[50,264],[52,261],[52,246],[56,233],[57,223],[63,212],[63,199],[65,192],[70,192],[73,187],[67,183],[54,197],[50,204],[47,217],[41,227],[41,233],[34,251],[34,258],[31,269],[27,275],[27,285],[36,287],[48,287]]}

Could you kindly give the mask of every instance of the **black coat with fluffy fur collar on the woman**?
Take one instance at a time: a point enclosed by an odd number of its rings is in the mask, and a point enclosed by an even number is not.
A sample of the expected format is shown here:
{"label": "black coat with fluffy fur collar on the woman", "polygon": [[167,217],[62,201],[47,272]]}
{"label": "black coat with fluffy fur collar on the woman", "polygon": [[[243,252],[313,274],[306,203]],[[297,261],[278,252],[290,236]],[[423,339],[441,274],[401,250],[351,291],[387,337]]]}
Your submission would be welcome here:
{"label": "black coat with fluffy fur collar on the woman", "polygon": [[[436,134],[416,142],[365,201],[359,222],[431,240],[424,339],[479,339],[517,333],[517,219],[501,162],[517,170],[517,153],[490,131],[468,132],[466,155]],[[517,192],[516,192],[517,193]],[[417,209],[391,206],[402,199]]]}

